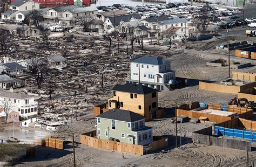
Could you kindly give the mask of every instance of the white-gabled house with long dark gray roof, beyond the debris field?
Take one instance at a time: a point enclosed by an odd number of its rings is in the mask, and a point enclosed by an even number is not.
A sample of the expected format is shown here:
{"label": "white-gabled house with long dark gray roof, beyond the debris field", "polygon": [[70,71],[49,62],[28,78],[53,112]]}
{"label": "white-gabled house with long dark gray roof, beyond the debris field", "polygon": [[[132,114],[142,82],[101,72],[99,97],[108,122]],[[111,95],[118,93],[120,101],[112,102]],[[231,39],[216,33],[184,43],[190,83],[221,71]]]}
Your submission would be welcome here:
{"label": "white-gabled house with long dark gray roof, beyond the debris field", "polygon": [[104,31],[107,33],[111,33],[114,31],[114,27],[116,27],[116,31],[118,31],[118,25],[124,22],[133,22],[136,20],[140,20],[142,17],[138,14],[129,14],[129,15],[121,15],[115,17],[107,17],[104,22]]}

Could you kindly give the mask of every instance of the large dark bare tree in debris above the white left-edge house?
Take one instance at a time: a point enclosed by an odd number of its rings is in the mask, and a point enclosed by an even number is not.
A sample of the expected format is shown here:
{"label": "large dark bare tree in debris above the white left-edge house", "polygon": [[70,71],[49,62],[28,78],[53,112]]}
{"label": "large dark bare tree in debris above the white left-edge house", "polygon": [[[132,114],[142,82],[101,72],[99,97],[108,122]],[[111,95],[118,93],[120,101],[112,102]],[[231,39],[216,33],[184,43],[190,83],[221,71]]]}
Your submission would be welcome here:
{"label": "large dark bare tree in debris above the white left-edge house", "polygon": [[27,63],[30,66],[31,74],[35,77],[38,89],[41,88],[42,81],[48,75],[48,67],[42,58],[33,57]]}

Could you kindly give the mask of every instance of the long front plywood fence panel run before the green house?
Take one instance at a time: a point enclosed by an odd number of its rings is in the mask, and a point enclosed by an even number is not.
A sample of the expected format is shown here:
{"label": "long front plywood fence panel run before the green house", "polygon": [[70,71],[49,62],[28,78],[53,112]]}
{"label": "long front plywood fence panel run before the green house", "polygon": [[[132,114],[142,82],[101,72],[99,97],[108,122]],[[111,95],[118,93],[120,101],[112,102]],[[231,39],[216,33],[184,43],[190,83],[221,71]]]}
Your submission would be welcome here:
{"label": "long front plywood fence panel run before the green house", "polygon": [[114,150],[120,152],[129,152],[131,154],[143,155],[143,145],[128,144],[110,140],[101,140],[95,137],[80,135],[80,142],[90,147]]}

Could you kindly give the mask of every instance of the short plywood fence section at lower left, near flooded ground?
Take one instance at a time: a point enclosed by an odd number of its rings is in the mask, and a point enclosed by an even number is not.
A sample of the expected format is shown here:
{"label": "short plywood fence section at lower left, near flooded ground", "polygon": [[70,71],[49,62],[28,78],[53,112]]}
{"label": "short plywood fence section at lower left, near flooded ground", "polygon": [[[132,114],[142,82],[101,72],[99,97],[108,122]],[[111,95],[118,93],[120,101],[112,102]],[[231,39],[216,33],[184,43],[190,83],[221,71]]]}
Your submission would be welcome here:
{"label": "short plywood fence section at lower left, near flooded ground", "polygon": [[59,138],[41,138],[37,142],[37,145],[42,145],[45,147],[51,147],[51,148],[56,148],[56,149],[63,149],[63,140]]}

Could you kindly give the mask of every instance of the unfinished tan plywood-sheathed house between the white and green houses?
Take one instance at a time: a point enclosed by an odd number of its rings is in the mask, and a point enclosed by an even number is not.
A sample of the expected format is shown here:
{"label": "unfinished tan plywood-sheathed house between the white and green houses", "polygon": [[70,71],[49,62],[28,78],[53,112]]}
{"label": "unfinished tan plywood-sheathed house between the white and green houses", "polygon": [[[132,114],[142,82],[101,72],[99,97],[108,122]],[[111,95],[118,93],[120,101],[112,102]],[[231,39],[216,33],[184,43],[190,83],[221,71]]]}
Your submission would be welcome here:
{"label": "unfinished tan plywood-sheathed house between the white and green houses", "polygon": [[123,109],[140,114],[146,121],[156,117],[158,110],[158,91],[144,85],[126,83],[116,85],[109,99],[109,109]]}

